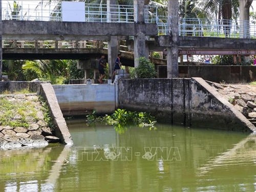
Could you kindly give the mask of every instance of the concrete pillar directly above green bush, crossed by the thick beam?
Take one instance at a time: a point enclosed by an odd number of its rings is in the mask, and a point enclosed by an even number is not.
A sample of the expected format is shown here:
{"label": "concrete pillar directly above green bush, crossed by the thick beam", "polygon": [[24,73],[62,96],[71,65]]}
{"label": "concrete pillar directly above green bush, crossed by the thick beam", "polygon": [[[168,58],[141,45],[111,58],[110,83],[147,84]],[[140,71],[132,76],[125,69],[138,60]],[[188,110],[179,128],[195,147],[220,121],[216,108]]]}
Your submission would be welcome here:
{"label": "concrete pillar directly above green bush, crossed by the thick beam", "polygon": [[[145,2],[141,0],[134,1],[134,22],[144,23],[144,5]],[[139,66],[139,57],[148,58],[148,53],[146,53],[146,41],[145,35],[142,32],[138,32],[134,36],[134,67]]]}

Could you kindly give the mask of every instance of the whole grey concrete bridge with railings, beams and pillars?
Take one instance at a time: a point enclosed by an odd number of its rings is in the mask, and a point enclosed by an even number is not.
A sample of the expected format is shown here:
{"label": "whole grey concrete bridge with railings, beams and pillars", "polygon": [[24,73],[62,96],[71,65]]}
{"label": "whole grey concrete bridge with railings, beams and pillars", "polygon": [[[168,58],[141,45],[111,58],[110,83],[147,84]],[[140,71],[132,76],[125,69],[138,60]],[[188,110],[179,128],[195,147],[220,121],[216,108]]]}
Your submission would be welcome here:
{"label": "whole grey concrete bridge with railings, beams and pillars", "polygon": [[[4,47],[1,50],[1,56],[3,55],[4,59],[63,57],[81,59],[87,58],[88,55],[94,57],[98,53],[107,53],[109,63],[114,63],[119,52],[118,42],[124,39],[128,42],[127,46],[132,48],[134,58],[140,56],[147,57],[150,51],[162,51],[166,48],[167,77],[177,77],[178,55],[181,54],[256,54],[254,46],[256,39],[253,39],[256,30],[250,30],[255,28],[253,27],[255,24],[248,21],[241,22],[240,28],[237,26],[232,27],[233,24],[230,21],[229,29],[232,30],[226,35],[224,29],[227,26],[223,24],[211,23],[208,27],[205,27],[203,20],[190,20],[187,22],[185,19],[182,19],[179,21],[177,18],[178,1],[172,1],[172,4],[168,2],[168,17],[165,18],[157,14],[153,14],[154,16],[147,14],[149,8],[144,5],[144,1],[134,1],[134,6],[132,7],[122,6],[122,8],[125,8],[125,11],[121,11],[120,6],[115,4],[116,1],[107,2],[108,4],[105,7],[100,7],[100,12],[94,10],[95,7],[99,8],[99,5],[85,5],[84,9],[86,10],[83,11],[86,14],[82,14],[84,15],[84,20],[79,22],[77,20],[69,20],[69,9],[67,9],[67,12],[63,11],[63,9],[62,12],[57,12],[60,10],[59,8],[51,10],[51,13],[46,18],[41,5],[40,11],[36,11],[36,15],[38,12],[41,13],[39,16],[33,17],[26,14],[25,17],[25,14],[22,14],[22,12],[15,13],[14,11],[13,15],[9,15],[9,19],[12,20],[7,20],[6,10],[1,9],[3,12],[1,34],[4,40],[4,45],[1,46]],[[247,1],[249,5],[251,2]],[[63,8],[65,5],[57,4],[55,7],[58,6]],[[248,7],[248,5],[246,6]],[[72,9],[71,7],[69,8]],[[243,8],[243,10],[246,12],[246,8]],[[27,12],[29,12],[29,9]],[[31,10],[29,13],[31,13]],[[29,20],[31,18],[32,20]],[[242,18],[244,17],[242,16]],[[207,33],[204,33],[204,28],[210,28],[211,31],[213,29],[213,33],[209,36],[214,34],[214,37],[205,37]],[[159,36],[159,34],[163,35]],[[129,40],[131,36],[133,36],[132,41]],[[154,37],[154,40],[146,41],[147,37]],[[223,40],[223,37],[237,38],[225,38]],[[13,41],[14,46],[12,48],[5,48],[5,42],[10,40]],[[96,46],[96,50],[78,48],[77,45],[82,44],[82,41],[89,40],[107,41],[108,51],[100,49],[100,46]],[[20,41],[20,48],[17,47],[18,41]],[[33,47],[34,45],[34,47],[25,49],[25,44],[22,41],[30,41],[30,46]],[[54,48],[46,49],[44,41],[53,41]],[[62,49],[59,46],[67,41],[73,42],[75,45],[73,49]],[[131,58],[131,56],[127,57]],[[138,66],[137,62],[135,59],[135,67]],[[113,67],[113,65],[110,65],[110,73]],[[0,69],[0,74],[2,75],[2,69]]]}

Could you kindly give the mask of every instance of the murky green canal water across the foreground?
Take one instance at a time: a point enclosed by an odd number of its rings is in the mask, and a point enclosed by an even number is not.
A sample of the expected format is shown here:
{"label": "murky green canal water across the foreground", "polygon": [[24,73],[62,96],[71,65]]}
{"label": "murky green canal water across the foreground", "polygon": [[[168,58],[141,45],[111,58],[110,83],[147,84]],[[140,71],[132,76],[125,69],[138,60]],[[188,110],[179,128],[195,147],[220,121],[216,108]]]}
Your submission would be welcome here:
{"label": "murky green canal water across the foreground", "polygon": [[0,151],[0,191],[256,190],[256,136],[67,123],[72,147]]}

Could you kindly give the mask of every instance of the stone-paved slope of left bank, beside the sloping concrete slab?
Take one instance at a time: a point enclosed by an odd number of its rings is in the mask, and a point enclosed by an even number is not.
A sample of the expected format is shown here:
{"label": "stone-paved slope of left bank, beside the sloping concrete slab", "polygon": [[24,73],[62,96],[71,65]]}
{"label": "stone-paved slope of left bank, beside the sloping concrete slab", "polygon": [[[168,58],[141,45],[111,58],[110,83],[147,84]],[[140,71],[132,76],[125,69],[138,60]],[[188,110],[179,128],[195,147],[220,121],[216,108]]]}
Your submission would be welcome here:
{"label": "stone-paved slope of left bank, beside the sloping concrete slab", "polygon": [[[9,126],[0,122],[0,150],[20,147],[43,147],[50,142],[59,142],[59,138],[54,136],[54,130],[50,129],[44,120],[44,112],[37,94],[0,95],[0,103],[1,99],[25,106],[29,103],[30,107],[33,107],[33,113],[36,113],[36,115],[33,117],[30,110],[22,112],[25,114],[25,120],[29,124],[28,127]],[[11,112],[12,121],[24,118],[17,110],[8,112]],[[5,116],[4,113],[6,112],[0,111],[0,116]]]}

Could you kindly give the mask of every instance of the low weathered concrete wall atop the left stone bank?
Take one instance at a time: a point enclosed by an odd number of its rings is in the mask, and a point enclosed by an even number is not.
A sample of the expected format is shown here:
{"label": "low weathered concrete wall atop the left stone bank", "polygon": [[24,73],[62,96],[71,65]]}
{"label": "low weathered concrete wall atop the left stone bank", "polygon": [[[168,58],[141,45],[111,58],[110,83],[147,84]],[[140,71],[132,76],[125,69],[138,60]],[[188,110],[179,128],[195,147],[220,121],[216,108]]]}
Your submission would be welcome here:
{"label": "low weathered concrete wall atop the left stone bank", "polygon": [[28,89],[31,92],[40,92],[40,84],[45,81],[0,81],[0,92],[5,90],[14,92]]}

